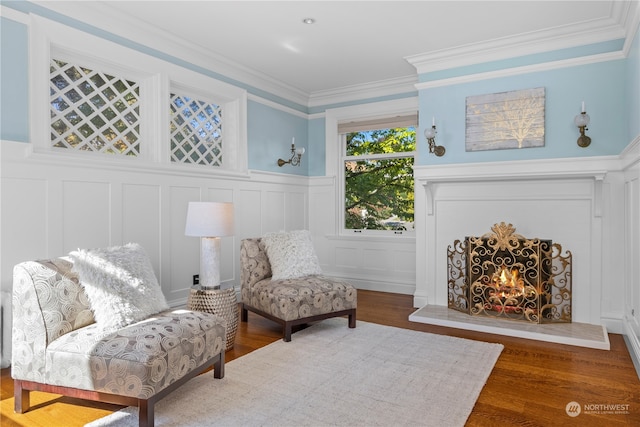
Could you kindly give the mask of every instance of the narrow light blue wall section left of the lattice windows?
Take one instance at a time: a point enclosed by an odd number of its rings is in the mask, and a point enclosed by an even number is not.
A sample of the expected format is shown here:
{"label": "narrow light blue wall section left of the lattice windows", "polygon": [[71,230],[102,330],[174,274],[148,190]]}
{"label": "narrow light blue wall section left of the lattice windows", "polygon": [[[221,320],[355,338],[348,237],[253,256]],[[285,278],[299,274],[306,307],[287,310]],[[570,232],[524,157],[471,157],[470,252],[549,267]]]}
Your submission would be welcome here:
{"label": "narrow light blue wall section left of the lattice windows", "polygon": [[27,27],[0,18],[0,139],[29,141]]}

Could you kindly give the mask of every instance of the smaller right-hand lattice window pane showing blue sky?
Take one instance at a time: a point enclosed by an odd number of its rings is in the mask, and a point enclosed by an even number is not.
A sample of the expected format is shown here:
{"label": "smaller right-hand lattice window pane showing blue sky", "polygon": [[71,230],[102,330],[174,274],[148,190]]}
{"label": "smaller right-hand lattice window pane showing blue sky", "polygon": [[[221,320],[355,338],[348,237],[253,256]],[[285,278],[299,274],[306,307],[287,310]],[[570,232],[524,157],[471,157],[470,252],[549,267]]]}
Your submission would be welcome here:
{"label": "smaller right-hand lattice window pane showing blue sky", "polygon": [[171,94],[171,161],[222,166],[222,108]]}

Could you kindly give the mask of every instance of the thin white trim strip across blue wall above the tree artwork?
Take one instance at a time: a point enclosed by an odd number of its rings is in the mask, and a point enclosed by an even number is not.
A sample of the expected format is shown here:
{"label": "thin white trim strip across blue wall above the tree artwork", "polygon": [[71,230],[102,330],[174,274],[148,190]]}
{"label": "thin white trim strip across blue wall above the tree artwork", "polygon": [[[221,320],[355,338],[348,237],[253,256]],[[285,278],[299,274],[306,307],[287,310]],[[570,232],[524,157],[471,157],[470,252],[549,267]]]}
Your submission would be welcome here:
{"label": "thin white trim strip across blue wall above the tree artwork", "polygon": [[582,56],[579,58],[563,59],[561,61],[546,62],[534,65],[525,65],[522,67],[504,68],[496,71],[487,71],[485,73],[469,74],[460,77],[451,77],[447,79],[433,80],[416,84],[416,89],[430,89],[434,87],[451,86],[462,83],[471,83],[481,80],[497,79],[520,74],[540,73],[543,71],[557,70],[560,68],[576,67],[579,65],[595,64],[597,62],[615,61],[624,59],[622,52],[602,53],[592,56]]}

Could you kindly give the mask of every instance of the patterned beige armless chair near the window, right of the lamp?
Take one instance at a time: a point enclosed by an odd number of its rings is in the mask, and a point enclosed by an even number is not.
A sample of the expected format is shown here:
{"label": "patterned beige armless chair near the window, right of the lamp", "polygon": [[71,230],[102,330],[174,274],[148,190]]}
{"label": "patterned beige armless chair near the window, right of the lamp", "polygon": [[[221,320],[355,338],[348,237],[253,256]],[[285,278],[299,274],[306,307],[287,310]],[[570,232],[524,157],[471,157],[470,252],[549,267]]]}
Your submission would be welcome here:
{"label": "patterned beige armless chair near the window, right of the lamp", "polygon": [[284,341],[291,341],[293,326],[330,317],[348,316],[349,327],[356,327],[357,291],[351,284],[321,274],[273,280],[261,238],[240,244],[240,281],[241,320],[252,311],[278,322]]}

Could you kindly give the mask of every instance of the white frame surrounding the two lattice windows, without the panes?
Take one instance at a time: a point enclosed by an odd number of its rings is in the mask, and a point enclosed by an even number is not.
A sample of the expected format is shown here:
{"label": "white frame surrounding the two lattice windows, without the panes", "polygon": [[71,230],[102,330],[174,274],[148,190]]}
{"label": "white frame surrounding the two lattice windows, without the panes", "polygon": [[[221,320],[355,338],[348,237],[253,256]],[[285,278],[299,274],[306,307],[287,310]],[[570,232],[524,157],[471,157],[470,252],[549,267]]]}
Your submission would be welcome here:
{"label": "white frame surrounding the two lattice windows, without the panes", "polygon": [[[146,164],[151,168],[170,167],[191,173],[247,173],[245,89],[37,15],[30,15],[29,31],[30,139],[35,153],[60,159],[82,159],[85,162],[116,162],[135,168]],[[52,57],[88,67],[93,66],[100,71],[140,83],[139,156],[113,156],[61,150],[51,146],[49,64]],[[169,154],[169,93],[172,87],[187,88],[194,97],[212,99],[223,107],[224,156],[228,160],[224,162],[223,167],[172,164]]]}

